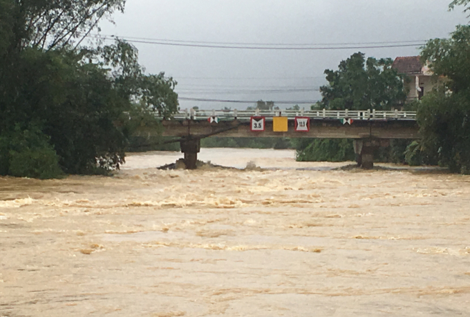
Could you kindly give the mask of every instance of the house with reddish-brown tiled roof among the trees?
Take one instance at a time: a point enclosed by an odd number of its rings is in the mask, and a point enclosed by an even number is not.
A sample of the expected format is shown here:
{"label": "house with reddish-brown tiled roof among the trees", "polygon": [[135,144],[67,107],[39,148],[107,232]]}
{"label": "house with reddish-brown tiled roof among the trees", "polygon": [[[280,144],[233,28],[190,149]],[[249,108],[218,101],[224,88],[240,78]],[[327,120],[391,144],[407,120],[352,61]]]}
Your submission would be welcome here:
{"label": "house with reddish-brown tiled roof among the trees", "polygon": [[433,73],[426,65],[422,64],[419,56],[397,57],[393,61],[392,68],[410,79],[408,81],[409,93],[406,102],[421,99],[438,84],[438,80],[433,78]]}

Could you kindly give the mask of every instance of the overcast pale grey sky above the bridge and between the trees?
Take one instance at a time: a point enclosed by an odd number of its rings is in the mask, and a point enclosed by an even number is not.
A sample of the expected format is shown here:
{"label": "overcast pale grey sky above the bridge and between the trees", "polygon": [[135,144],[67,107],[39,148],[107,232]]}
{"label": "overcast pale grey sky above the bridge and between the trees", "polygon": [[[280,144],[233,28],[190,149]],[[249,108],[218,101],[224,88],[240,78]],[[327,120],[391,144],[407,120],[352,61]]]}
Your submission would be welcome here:
{"label": "overcast pale grey sky above the bridge and between the trees", "polygon": [[[336,70],[353,53],[419,55],[419,44],[449,37],[456,25],[468,23],[462,7],[449,12],[449,2],[127,0],[124,14],[115,13],[114,23],[100,28],[102,35],[133,41],[147,73],[178,81],[181,109],[245,109],[260,99],[309,108],[321,99],[324,70]],[[254,49],[259,47],[290,49]]]}

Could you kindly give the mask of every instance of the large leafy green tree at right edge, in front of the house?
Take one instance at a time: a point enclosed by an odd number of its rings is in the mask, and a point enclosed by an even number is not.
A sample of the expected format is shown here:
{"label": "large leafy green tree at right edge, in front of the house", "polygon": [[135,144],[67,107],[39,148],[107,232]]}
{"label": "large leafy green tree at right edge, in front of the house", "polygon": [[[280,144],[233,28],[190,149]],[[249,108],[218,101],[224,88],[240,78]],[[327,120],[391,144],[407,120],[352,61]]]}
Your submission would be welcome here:
{"label": "large leafy green tree at right edge, in front of the house", "polygon": [[418,108],[421,150],[453,172],[470,173],[470,26],[458,26],[450,39],[428,41],[422,59],[446,80]]}

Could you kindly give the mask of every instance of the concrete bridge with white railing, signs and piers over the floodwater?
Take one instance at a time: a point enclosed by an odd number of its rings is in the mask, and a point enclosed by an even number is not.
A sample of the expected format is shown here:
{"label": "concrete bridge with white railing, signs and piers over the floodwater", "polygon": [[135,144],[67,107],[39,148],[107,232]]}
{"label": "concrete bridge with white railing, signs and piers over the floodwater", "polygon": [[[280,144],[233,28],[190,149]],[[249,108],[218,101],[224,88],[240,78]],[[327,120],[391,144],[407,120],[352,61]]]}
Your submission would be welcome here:
{"label": "concrete bridge with white railing, signs and piers over the floodwater", "polygon": [[[195,169],[200,140],[218,137],[308,137],[353,139],[357,162],[373,167],[373,152],[392,139],[418,139],[413,111],[180,111],[162,121],[162,135],[176,137],[187,169]],[[143,131],[142,131],[143,132]]]}

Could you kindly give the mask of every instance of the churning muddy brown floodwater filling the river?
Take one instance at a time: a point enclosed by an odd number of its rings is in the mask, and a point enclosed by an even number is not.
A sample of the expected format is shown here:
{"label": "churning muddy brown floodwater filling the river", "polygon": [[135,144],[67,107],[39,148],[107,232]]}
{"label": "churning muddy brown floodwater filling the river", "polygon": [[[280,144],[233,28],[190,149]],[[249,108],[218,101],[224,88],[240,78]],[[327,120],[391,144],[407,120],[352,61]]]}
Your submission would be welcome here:
{"label": "churning muddy brown floodwater filling the river", "polygon": [[[470,177],[298,163],[0,177],[0,316],[470,316]],[[351,163],[346,163],[351,164]]]}

